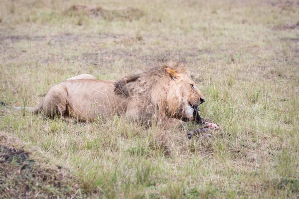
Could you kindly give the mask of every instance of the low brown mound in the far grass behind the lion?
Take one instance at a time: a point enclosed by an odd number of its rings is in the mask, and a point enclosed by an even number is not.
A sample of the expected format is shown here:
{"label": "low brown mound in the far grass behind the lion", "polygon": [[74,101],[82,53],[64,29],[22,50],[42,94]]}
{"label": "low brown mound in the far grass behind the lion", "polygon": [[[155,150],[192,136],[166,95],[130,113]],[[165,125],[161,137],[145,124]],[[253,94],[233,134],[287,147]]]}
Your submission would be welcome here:
{"label": "low brown mound in the far grass behind the lion", "polygon": [[88,5],[72,5],[63,12],[67,15],[87,14],[89,16],[103,17],[106,20],[122,19],[134,20],[144,16],[144,11],[138,8],[127,7],[123,9],[104,9],[103,7],[91,7]]}

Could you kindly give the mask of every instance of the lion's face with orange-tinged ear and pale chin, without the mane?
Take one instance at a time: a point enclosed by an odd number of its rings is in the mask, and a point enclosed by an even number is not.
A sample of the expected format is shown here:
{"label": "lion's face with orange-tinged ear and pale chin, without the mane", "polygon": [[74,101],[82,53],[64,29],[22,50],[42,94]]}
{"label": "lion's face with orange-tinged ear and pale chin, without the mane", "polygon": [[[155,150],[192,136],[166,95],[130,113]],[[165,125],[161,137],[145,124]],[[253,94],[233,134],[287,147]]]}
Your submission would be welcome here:
{"label": "lion's face with orange-tinged ear and pale chin, without the mane", "polygon": [[168,73],[169,92],[167,106],[173,117],[193,121],[194,111],[205,101],[195,83],[184,73],[165,68]]}

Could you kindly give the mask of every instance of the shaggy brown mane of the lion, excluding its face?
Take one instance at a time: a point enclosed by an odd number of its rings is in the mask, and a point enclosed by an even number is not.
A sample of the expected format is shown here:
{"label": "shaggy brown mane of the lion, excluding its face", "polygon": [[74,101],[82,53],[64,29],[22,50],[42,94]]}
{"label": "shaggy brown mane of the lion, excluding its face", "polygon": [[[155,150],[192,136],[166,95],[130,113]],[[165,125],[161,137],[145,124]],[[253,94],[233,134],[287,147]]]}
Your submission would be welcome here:
{"label": "shaggy brown mane of the lion, excluding its face", "polygon": [[[172,107],[167,107],[166,93],[168,92],[169,80],[165,73],[165,68],[171,68],[180,74],[185,74],[185,67],[182,63],[162,63],[150,67],[148,70],[135,75],[127,76],[117,81],[114,92],[118,95],[131,97],[131,99],[142,110],[138,114],[141,121],[150,121],[154,114],[158,118],[172,117],[173,112],[182,106],[180,101],[174,102]],[[182,110],[182,108],[179,108]],[[176,116],[181,116],[181,112],[176,112]]]}

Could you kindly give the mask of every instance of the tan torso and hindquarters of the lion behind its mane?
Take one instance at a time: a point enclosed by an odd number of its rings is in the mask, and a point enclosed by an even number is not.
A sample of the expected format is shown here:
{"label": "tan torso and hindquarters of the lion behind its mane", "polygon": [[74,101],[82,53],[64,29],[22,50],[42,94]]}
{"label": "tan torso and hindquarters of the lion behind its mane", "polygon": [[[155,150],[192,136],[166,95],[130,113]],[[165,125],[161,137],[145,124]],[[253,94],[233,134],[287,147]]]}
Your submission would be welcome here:
{"label": "tan torso and hindquarters of the lion behind its mane", "polygon": [[50,88],[36,111],[82,122],[121,115],[127,109],[128,99],[114,94],[114,83],[94,79],[66,80]]}

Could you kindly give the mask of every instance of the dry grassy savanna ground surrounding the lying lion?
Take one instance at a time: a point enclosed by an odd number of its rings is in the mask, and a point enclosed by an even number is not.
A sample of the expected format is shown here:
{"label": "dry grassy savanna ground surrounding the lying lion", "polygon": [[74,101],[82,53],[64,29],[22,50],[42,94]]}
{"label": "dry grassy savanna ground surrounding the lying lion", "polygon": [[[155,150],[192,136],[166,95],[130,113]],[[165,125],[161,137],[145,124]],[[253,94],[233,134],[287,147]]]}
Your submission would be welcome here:
{"label": "dry grassy savanna ground surrounding the lying lion", "polygon": [[65,11],[76,3],[1,0],[0,101],[35,106],[78,74],[118,79],[179,59],[221,129],[189,140],[187,128],[1,107],[0,198],[299,197],[297,0],[84,0],[99,8]]}

